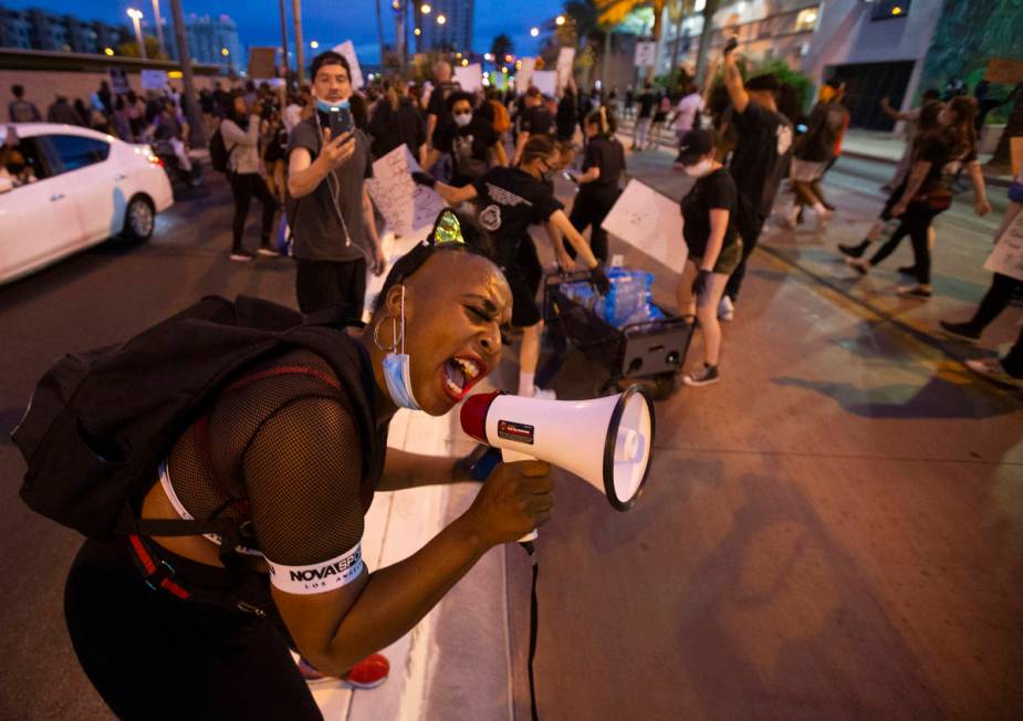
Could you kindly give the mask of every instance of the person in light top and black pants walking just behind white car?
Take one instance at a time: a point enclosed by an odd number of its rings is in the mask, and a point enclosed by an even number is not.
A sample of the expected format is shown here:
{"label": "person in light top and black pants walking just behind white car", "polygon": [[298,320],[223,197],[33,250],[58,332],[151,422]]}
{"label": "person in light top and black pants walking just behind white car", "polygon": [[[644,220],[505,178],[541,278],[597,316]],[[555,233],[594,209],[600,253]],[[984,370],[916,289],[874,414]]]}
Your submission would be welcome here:
{"label": "person in light top and black pants walking just behind white car", "polygon": [[259,156],[260,116],[263,107],[257,102],[253,107],[246,105],[244,96],[236,93],[232,105],[220,123],[220,134],[228,149],[228,180],[234,197],[234,220],[231,224],[232,242],[230,259],[236,262],[251,261],[254,255],[246,250],[242,236],[249,216],[249,203],[257,198],[263,207],[260,229],[259,252],[261,255],[276,255],[270,244],[273,230],[273,217],[278,202],[267,187],[262,176],[262,159]]}

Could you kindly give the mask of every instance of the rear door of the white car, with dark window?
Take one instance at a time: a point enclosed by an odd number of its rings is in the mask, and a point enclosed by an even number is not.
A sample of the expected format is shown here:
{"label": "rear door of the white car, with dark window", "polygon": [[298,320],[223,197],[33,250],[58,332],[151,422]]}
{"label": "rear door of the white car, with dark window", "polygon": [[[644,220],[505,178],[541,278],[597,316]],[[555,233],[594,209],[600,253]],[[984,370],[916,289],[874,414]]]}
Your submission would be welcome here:
{"label": "rear door of the white car, with dark window", "polygon": [[121,232],[127,198],[122,188],[123,171],[111,161],[111,144],[81,135],[48,134],[50,151],[55,154],[67,178],[71,199],[82,224],[82,244],[105,240]]}

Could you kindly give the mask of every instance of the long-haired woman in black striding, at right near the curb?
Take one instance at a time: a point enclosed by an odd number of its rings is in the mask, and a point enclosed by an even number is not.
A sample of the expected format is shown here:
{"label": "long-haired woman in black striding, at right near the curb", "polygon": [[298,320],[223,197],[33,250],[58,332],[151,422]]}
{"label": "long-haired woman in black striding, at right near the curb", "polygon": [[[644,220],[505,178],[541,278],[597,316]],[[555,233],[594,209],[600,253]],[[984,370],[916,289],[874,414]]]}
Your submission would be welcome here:
{"label": "long-haired woman in black striding, at right near the curb", "polygon": [[963,165],[973,184],[974,212],[985,216],[991,210],[983,171],[977,159],[975,112],[977,101],[965,95],[956,96],[939,114],[940,127],[919,137],[909,178],[891,208],[891,216],[900,221],[899,227],[869,260],[847,260],[858,273],[868,273],[909,236],[917,284],[899,288],[898,292],[919,299],[932,295],[928,233],[935,218],[952,205],[952,184]]}

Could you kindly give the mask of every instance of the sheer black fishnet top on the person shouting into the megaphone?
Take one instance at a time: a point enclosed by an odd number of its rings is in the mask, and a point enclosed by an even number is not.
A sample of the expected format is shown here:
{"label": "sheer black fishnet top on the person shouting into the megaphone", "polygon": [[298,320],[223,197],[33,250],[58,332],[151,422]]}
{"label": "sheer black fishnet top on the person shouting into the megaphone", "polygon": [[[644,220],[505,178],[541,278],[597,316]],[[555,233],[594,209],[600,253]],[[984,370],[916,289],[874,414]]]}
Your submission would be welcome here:
{"label": "sheer black fishnet top on the person shouting into the megaphone", "polygon": [[337,557],[362,539],[376,480],[363,478],[355,416],[330,365],[290,351],[246,372],[181,436],[174,492],[195,519],[250,520],[275,564]]}

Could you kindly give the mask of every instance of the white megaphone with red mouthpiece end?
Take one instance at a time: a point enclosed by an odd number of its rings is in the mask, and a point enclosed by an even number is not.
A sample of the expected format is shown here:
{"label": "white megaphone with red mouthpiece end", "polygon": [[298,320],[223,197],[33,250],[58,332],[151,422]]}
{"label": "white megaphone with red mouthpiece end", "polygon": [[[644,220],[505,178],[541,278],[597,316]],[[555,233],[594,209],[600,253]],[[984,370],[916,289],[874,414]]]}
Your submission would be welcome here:
{"label": "white megaphone with red mouthpiece end", "polygon": [[[466,399],[462,430],[505,462],[547,461],[578,476],[617,511],[631,509],[654,458],[654,400],[639,385],[593,400],[537,400],[501,390]],[[520,541],[532,541],[533,531]]]}

